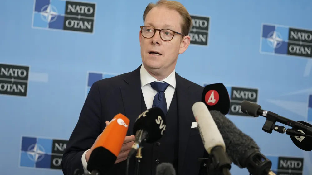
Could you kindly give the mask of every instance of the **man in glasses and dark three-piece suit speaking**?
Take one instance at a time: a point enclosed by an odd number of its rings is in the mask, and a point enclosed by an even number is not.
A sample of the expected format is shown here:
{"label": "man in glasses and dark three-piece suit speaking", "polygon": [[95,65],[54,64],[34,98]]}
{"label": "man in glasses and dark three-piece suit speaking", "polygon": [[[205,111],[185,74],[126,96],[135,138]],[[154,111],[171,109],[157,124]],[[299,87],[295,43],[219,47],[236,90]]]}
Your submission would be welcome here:
{"label": "man in glasses and dark three-piece suit speaking", "polygon": [[[124,160],[134,141],[134,121],[154,106],[166,115],[166,131],[157,142],[144,144],[140,174],[155,175],[162,162],[172,163],[179,175],[206,173],[198,161],[206,154],[202,140],[197,128],[192,128],[192,105],[201,101],[203,87],[175,73],[178,55],[190,44],[192,19],[179,2],[160,0],[146,7],[143,21],[139,32],[143,64],[133,72],[92,85],[63,155],[64,174],[73,175],[76,169],[88,173],[96,139],[108,121],[122,113],[130,119],[129,130],[110,174],[124,175]],[[135,158],[130,161],[129,175],[134,175],[134,167]]]}

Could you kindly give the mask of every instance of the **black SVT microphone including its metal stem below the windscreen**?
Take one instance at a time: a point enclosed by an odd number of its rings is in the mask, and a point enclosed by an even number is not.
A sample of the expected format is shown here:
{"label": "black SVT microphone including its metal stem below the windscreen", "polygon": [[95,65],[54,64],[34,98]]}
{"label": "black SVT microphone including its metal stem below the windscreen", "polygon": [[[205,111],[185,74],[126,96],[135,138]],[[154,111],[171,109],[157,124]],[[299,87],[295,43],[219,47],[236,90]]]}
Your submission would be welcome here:
{"label": "black SVT microphone including its metal stem below the windscreen", "polygon": [[153,107],[140,114],[134,122],[135,140],[129,151],[128,159],[138,151],[143,142],[154,143],[159,140],[165,130],[166,120],[162,109]]}

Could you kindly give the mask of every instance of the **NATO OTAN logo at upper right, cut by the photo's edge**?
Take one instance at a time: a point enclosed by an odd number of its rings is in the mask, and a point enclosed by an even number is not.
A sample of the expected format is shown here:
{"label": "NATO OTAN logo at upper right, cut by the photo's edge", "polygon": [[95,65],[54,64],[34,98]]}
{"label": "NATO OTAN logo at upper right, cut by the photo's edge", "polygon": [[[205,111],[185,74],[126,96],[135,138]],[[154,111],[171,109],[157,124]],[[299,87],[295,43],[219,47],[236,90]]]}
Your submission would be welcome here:
{"label": "NATO OTAN logo at upper right, cut by the photo's edge", "polygon": [[262,24],[261,54],[278,54],[311,58],[312,31]]}

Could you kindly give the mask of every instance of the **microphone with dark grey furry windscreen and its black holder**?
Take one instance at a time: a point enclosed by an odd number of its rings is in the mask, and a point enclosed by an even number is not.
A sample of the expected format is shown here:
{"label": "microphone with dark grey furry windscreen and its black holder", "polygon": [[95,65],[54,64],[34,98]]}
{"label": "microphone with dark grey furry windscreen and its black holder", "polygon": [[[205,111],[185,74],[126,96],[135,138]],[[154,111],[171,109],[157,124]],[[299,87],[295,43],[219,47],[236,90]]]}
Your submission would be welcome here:
{"label": "microphone with dark grey furry windscreen and its black holder", "polygon": [[251,175],[276,175],[270,169],[272,162],[260,153],[255,141],[239,130],[234,123],[220,111],[211,110],[226,145],[226,152],[235,165],[247,168]]}

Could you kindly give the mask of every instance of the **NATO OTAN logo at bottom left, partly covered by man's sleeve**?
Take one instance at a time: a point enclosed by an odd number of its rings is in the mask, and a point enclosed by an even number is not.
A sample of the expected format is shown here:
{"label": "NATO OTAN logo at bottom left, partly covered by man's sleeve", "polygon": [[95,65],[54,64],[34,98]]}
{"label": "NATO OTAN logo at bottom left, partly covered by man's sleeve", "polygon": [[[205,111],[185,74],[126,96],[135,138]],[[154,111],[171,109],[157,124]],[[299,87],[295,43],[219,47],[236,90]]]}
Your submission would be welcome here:
{"label": "NATO OTAN logo at bottom left, partly covered by man's sleeve", "polygon": [[68,140],[22,137],[20,167],[62,169],[62,155]]}

